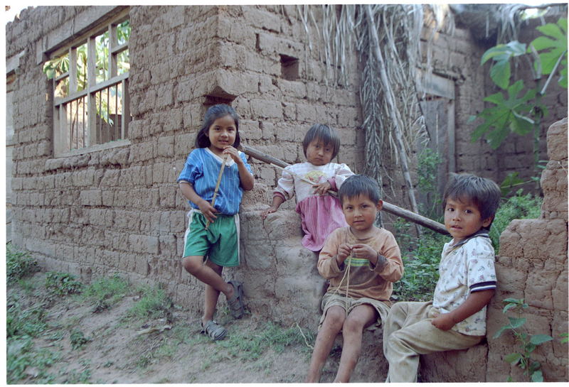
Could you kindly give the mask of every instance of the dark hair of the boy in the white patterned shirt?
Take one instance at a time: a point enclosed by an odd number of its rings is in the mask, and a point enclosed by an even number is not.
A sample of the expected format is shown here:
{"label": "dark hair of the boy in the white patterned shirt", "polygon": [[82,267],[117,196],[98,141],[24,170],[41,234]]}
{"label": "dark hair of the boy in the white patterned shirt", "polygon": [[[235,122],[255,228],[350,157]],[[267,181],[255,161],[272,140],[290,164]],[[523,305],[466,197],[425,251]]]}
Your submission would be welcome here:
{"label": "dark hair of the boy in the white patterned shirt", "polygon": [[[492,217],[494,221],[500,197],[500,187],[492,180],[469,173],[451,173],[442,195],[442,209],[444,211],[447,207],[449,198],[472,202],[478,208],[482,220]],[[490,225],[486,228],[489,229]]]}

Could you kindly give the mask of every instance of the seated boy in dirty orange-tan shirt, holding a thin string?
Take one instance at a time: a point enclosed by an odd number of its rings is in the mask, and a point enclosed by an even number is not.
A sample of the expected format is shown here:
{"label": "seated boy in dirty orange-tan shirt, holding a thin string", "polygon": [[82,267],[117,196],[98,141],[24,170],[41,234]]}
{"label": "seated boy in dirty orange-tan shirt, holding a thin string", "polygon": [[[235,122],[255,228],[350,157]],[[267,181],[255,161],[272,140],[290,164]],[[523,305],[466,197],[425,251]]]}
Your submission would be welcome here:
{"label": "seated boy in dirty orange-tan shirt, holding a thin string", "polygon": [[349,227],[334,230],[319,255],[318,271],[330,285],[321,302],[323,314],[306,378],[309,383],[319,381],[339,332],[344,345],[334,381],[350,380],[361,351],[363,329],[387,317],[393,283],[403,276],[393,234],[374,225],[383,207],[377,182],[353,175],[338,193]]}

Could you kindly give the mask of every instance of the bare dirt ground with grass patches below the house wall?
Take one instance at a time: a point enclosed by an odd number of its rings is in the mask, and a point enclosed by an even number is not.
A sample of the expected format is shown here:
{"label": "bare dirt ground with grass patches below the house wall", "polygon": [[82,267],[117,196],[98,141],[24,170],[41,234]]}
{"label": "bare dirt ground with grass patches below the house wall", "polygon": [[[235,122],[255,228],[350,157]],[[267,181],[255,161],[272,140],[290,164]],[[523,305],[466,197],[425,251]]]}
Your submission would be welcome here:
{"label": "bare dirt ground with grass patches below the house wall", "polygon": [[[125,313],[139,298],[137,295],[127,295],[99,312],[70,296],[46,302],[45,295],[41,295],[45,277],[45,273],[36,273],[29,280],[35,288],[33,292],[29,285],[28,291],[19,285],[7,287],[9,304],[10,300],[18,300],[22,307],[41,305],[46,311],[48,329],[33,339],[33,351],[58,354],[58,360],[50,366],[26,367],[25,377],[18,384],[46,380],[57,384],[298,383],[306,375],[312,352],[311,337],[303,336],[307,332],[293,333],[297,339],[281,347],[261,344],[260,356],[252,356],[245,351],[245,344],[249,338],[262,334],[266,322],[251,315],[241,320],[233,320],[227,314],[218,317],[228,328],[228,335],[239,339],[235,345],[229,338],[212,342],[199,333],[198,316],[180,307],[171,307],[166,317],[154,321],[125,320]],[[73,348],[71,332],[78,329],[88,341]],[[11,350],[14,349],[8,348]],[[339,360],[336,352],[334,349],[321,381],[334,378]]]}

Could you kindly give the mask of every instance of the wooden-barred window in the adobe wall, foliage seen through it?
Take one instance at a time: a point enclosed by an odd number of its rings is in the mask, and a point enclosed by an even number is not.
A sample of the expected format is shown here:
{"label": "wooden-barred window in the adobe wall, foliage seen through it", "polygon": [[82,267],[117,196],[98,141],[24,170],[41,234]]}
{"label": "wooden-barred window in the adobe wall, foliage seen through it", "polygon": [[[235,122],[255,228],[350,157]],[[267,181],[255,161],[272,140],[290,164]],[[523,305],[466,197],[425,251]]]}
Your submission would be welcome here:
{"label": "wooden-barred window in the adobe wall, foliage seen through it", "polygon": [[54,156],[124,145],[128,138],[129,37],[127,14],[50,55]]}

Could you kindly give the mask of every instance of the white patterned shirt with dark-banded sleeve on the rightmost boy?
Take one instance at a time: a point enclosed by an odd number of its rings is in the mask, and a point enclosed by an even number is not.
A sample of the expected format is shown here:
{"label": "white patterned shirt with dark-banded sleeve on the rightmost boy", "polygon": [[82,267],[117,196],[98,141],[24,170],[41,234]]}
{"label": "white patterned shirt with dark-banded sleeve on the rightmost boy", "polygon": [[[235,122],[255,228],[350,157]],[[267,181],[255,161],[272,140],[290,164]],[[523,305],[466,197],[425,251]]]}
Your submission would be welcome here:
{"label": "white patterned shirt with dark-banded sleeve on the rightmost boy", "polygon": [[[495,289],[494,247],[486,231],[481,230],[454,246],[452,241],[445,244],[439,273],[432,306],[441,313],[451,312],[462,305],[470,293]],[[486,306],[452,329],[472,336],[486,334]]]}

